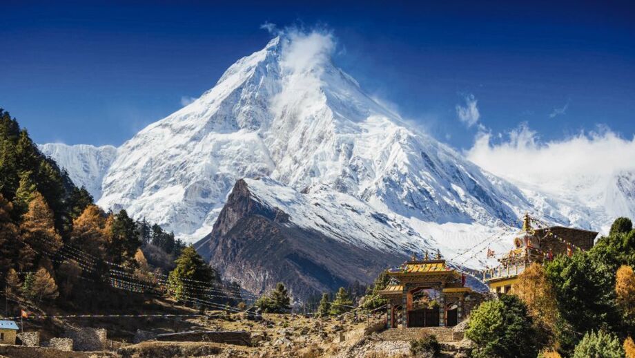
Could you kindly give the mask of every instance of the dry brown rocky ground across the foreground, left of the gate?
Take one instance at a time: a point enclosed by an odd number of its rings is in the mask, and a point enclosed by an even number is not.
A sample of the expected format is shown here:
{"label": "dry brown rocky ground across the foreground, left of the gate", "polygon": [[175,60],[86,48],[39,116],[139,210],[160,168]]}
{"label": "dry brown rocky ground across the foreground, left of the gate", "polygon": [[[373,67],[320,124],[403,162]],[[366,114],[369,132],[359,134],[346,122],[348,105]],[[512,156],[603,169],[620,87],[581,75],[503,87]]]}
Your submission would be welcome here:
{"label": "dry brown rocky ground across the foreground, left of the gate", "polygon": [[[108,327],[109,351],[90,352],[86,357],[411,357],[410,339],[413,334],[424,334],[413,333],[412,330],[404,335],[397,330],[383,331],[382,315],[373,317],[347,314],[339,318],[316,319],[298,314],[264,314],[262,321],[248,318],[244,313],[226,314],[215,311],[208,312],[207,317],[179,319],[178,324],[159,319],[139,319],[119,324],[101,322],[99,325],[83,321],[81,324],[93,328]],[[77,326],[78,323],[74,324]],[[458,327],[458,330],[464,329],[465,327]],[[171,342],[151,339],[152,332],[182,330],[246,331],[251,334],[252,344],[239,346],[202,341]],[[139,337],[150,340],[133,343],[139,341]],[[469,342],[457,340],[442,343],[443,357],[465,356]]]}

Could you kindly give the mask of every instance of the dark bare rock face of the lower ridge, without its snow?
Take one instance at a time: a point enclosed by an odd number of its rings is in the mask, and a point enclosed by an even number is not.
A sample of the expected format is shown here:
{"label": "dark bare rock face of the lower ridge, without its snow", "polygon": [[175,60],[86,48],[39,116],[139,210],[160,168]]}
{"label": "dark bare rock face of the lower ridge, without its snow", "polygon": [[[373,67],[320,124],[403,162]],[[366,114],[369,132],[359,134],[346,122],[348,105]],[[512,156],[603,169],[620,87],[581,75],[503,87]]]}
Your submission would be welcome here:
{"label": "dark bare rock face of the lower ridge, without its snow", "polygon": [[[255,186],[257,180],[249,182]],[[297,225],[250,189],[246,180],[236,183],[213,232],[198,243],[199,252],[224,279],[240,281],[248,291],[260,294],[282,281],[302,299],[346,287],[355,279],[370,283],[381,270],[406,258]]]}

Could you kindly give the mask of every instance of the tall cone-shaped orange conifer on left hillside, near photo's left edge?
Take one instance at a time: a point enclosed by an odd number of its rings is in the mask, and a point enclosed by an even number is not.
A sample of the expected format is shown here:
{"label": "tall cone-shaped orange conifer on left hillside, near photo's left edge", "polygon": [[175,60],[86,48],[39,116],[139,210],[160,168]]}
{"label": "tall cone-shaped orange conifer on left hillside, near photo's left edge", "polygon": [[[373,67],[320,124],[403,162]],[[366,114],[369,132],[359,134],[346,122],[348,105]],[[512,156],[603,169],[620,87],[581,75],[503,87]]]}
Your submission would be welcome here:
{"label": "tall cone-shaped orange conifer on left hillside, near photo's left edge", "polygon": [[39,192],[33,194],[29,209],[20,225],[23,241],[39,253],[55,252],[61,247],[61,236],[55,231],[53,213]]}

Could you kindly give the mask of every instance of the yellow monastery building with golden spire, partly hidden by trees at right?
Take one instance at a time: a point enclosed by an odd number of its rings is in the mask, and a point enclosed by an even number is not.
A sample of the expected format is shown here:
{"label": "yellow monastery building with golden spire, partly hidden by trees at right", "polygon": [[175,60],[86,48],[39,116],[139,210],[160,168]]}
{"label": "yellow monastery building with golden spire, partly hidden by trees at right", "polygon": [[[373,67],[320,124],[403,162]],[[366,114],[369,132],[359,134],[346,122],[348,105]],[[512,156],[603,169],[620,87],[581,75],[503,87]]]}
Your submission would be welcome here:
{"label": "yellow monastery building with golden spire, partly hidden by trees at right", "polygon": [[483,272],[483,281],[490,292],[508,293],[518,274],[531,263],[543,263],[560,254],[571,255],[574,250],[593,247],[597,232],[571,227],[552,226],[534,229],[531,217],[525,214],[522,229],[514,236],[514,249],[498,259],[498,267]]}

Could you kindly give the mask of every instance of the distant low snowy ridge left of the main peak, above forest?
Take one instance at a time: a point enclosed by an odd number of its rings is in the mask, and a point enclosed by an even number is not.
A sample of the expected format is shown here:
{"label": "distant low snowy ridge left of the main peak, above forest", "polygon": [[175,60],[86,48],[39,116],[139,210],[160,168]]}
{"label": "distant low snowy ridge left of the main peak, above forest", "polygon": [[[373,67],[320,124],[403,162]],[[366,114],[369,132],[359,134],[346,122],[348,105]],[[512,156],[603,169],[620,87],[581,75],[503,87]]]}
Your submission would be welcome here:
{"label": "distant low snowy ridge left of the main peak, above forest", "polygon": [[45,156],[53,158],[59,167],[68,171],[75,185],[85,187],[95,200],[101,198],[101,180],[115,160],[115,147],[64,143],[40,144],[38,147]]}

